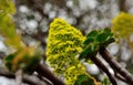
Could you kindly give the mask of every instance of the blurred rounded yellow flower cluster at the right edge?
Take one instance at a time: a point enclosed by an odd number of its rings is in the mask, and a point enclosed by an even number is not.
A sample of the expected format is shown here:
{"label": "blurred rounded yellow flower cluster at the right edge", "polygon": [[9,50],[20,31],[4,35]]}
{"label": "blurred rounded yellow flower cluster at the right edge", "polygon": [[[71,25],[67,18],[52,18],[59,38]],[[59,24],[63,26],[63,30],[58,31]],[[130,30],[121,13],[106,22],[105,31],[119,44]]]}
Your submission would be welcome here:
{"label": "blurred rounded yellow flower cluster at the right edge", "polygon": [[114,34],[126,38],[133,34],[133,15],[122,12],[113,19],[112,25]]}

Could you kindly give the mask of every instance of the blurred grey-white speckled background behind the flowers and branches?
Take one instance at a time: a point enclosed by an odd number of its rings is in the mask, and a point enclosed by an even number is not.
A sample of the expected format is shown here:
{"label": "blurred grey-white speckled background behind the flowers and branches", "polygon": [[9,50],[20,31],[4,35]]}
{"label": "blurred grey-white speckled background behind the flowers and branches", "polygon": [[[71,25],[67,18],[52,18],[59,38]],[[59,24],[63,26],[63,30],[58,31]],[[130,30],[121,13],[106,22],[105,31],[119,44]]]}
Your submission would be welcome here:
{"label": "blurred grey-white speckled background behind the flowers and branches", "polygon": [[[122,11],[133,13],[133,0],[13,0],[13,2],[17,8],[14,15],[17,32],[22,34],[22,41],[27,45],[40,45],[44,60],[49,24],[54,18],[66,20],[85,35],[94,29],[111,28],[112,19]],[[133,52],[125,41],[120,44],[112,43],[108,50],[123,67],[133,73]],[[0,52],[1,54],[10,52],[2,36],[0,36]],[[108,63],[104,64],[109,66]],[[2,66],[2,61],[0,65]],[[84,65],[99,81],[105,75],[94,64],[84,63]],[[109,70],[113,74],[110,67]],[[0,85],[14,85],[14,83],[13,79],[0,77]],[[120,81],[119,85],[126,84]]]}

